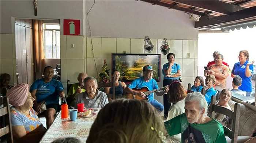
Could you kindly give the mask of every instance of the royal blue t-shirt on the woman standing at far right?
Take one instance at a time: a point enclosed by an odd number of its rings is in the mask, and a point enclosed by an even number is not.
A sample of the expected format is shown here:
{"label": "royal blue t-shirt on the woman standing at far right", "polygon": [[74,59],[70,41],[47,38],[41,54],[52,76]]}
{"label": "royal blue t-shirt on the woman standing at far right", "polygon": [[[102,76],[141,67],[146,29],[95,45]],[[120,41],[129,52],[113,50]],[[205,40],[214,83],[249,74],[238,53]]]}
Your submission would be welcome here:
{"label": "royal blue t-shirt on the woman standing at far right", "polygon": [[[240,66],[240,62],[235,63],[231,73],[233,73],[234,75],[238,75],[242,78],[242,85],[239,86],[238,89],[241,89],[242,91],[246,91],[246,92],[252,92],[252,81],[251,81],[252,76],[250,77],[245,76],[245,69],[246,69],[247,63],[248,61],[245,61],[242,66]],[[250,65],[249,69],[251,73],[253,73],[253,65]]]}

